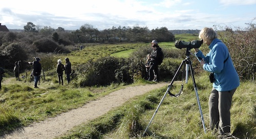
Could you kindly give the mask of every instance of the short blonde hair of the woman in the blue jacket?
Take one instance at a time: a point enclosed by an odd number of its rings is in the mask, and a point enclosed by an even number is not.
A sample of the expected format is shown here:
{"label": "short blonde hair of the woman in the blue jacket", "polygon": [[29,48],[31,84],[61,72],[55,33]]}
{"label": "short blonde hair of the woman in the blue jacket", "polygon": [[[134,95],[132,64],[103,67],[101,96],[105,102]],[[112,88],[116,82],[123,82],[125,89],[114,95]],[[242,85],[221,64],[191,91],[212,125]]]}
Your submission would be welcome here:
{"label": "short blonde hair of the woman in the blue jacket", "polygon": [[206,42],[211,42],[215,38],[218,38],[218,34],[217,32],[214,31],[214,29],[209,27],[204,27],[204,29],[200,31],[198,37],[206,43]]}

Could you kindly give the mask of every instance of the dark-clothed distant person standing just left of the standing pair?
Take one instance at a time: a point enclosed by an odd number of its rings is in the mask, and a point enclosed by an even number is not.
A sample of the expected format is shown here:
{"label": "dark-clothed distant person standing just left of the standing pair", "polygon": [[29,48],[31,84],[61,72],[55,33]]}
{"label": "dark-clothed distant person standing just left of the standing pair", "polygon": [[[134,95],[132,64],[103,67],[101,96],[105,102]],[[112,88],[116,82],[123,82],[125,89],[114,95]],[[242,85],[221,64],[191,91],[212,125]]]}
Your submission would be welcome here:
{"label": "dark-clothed distant person standing just left of the standing pair", "polygon": [[37,87],[37,82],[40,79],[40,74],[41,74],[41,63],[39,62],[40,58],[36,57],[35,61],[33,62],[29,62],[30,65],[33,65],[33,76],[34,76],[34,88],[38,88]]}

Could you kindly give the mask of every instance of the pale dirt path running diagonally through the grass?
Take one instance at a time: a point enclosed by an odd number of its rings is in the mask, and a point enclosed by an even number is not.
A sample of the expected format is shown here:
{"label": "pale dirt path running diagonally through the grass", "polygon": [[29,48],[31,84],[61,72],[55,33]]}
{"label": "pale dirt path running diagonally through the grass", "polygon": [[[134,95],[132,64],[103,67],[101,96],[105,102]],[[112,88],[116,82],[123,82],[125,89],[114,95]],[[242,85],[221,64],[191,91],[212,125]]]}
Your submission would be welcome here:
{"label": "pale dirt path running diagonally through the grass", "polygon": [[24,127],[22,131],[15,131],[12,134],[5,135],[5,139],[50,139],[72,129],[81,123],[86,123],[92,119],[106,114],[116,106],[122,105],[125,101],[148,91],[167,86],[168,82],[150,84],[145,86],[127,87],[106,95],[98,100],[91,101],[82,107],[72,109],[67,113],[62,113],[57,117],[33,123]]}

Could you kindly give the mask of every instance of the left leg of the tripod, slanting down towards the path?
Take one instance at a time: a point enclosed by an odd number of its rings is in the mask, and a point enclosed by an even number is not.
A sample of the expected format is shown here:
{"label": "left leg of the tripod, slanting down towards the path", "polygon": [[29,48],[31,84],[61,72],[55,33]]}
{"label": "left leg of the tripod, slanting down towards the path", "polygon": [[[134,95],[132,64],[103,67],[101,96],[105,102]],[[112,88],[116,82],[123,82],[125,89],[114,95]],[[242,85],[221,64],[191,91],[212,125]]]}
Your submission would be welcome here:
{"label": "left leg of the tripod, slanting down towards the path", "polygon": [[158,112],[158,109],[159,109],[160,105],[162,104],[162,102],[163,102],[165,96],[167,95],[167,93],[169,92],[170,88],[172,87],[172,85],[173,85],[173,83],[174,83],[174,79],[176,78],[176,76],[177,76],[179,70],[181,69],[181,67],[182,67],[182,65],[183,65],[184,63],[185,63],[185,60],[182,61],[182,63],[180,64],[180,67],[178,68],[178,70],[176,71],[176,73],[175,73],[175,75],[174,75],[172,81],[170,82],[170,85],[168,85],[168,88],[167,88],[166,92],[164,93],[163,98],[161,99],[160,103],[158,104],[157,109],[156,109],[154,115],[152,116],[152,118],[151,118],[151,120],[150,120],[150,123],[148,123],[148,125],[147,125],[145,131],[143,132],[143,135],[142,135],[142,136],[144,136],[145,132],[147,131],[148,127],[150,126],[151,122],[153,121],[155,115],[156,115],[157,112]]}

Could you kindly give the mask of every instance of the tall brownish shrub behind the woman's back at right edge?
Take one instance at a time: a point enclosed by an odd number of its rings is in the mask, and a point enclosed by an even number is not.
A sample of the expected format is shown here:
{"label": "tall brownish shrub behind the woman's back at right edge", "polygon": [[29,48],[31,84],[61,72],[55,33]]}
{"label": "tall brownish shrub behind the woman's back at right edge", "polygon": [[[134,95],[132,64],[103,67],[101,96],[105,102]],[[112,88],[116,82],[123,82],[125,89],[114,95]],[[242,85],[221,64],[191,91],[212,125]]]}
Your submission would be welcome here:
{"label": "tall brownish shrub behind the woman's back at right edge", "polygon": [[241,79],[255,79],[256,74],[256,27],[249,24],[245,30],[229,27],[219,32],[220,38],[229,49],[230,56]]}

